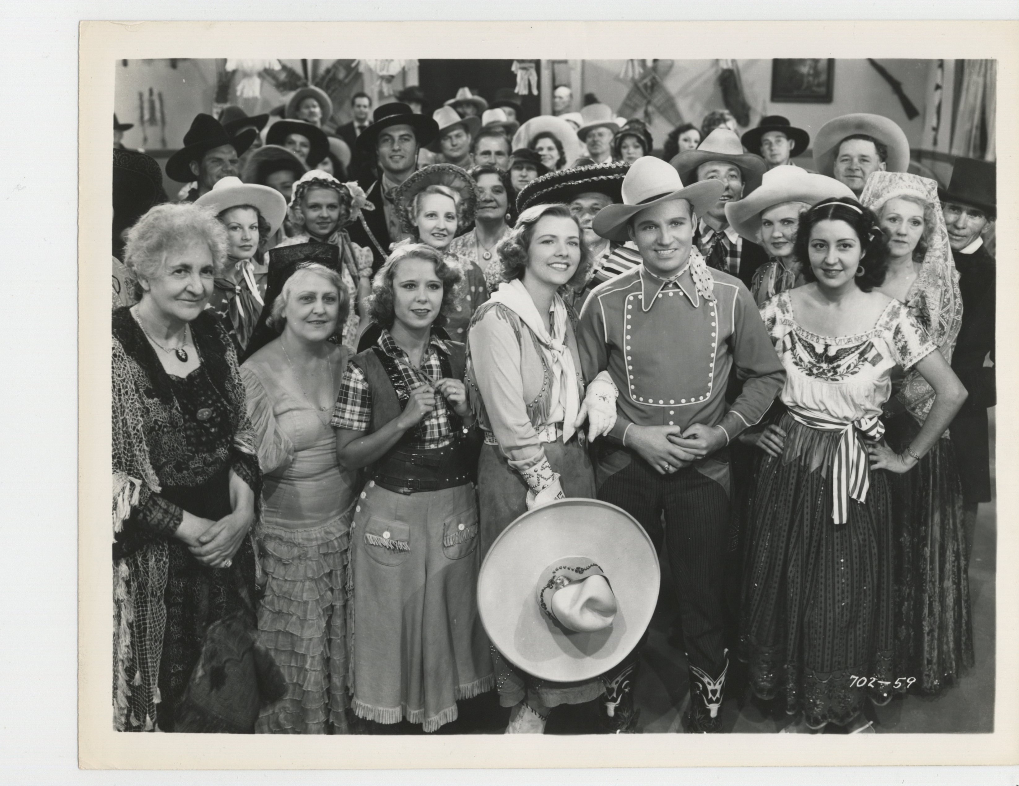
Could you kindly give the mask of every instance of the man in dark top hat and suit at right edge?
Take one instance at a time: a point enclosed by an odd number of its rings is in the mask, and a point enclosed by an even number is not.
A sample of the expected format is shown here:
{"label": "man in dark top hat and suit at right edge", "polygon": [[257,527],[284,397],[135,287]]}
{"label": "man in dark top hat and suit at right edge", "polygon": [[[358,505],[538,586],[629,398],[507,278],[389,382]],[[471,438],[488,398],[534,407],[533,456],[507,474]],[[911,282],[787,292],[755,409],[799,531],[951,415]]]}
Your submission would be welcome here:
{"label": "man in dark top hat and suit at right edge", "polygon": [[962,481],[967,562],[977,509],[981,502],[990,502],[987,407],[996,402],[995,258],[982,234],[998,214],[996,186],[995,164],[960,158],[949,187],[938,191],[962,294],[962,327],[952,370],[969,397],[952,422],[951,434]]}

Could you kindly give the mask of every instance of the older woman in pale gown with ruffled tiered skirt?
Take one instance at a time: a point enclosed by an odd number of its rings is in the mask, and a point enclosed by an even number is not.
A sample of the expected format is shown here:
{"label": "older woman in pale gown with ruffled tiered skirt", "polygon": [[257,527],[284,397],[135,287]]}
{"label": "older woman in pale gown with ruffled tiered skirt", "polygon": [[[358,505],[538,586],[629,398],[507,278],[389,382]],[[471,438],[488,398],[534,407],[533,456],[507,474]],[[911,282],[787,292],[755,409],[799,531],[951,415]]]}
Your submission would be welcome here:
{"label": "older woman in pale gown with ruffled tiered skirt", "polygon": [[342,734],[357,474],[339,466],[329,425],[350,349],[329,339],[341,329],[350,300],[335,246],[273,249],[269,265],[268,325],[278,335],[256,347],[240,377],[265,479],[257,532],[267,575],[259,637],[283,671],[286,693],[262,710],[256,731]]}

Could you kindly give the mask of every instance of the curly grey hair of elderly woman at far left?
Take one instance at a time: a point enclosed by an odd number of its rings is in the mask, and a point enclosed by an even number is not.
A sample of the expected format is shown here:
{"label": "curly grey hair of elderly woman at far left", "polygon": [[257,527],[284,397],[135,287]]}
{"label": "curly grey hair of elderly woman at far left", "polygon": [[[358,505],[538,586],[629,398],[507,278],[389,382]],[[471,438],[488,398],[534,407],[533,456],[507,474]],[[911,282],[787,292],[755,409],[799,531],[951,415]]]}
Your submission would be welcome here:
{"label": "curly grey hair of elderly woman at far left", "polygon": [[142,299],[141,279],[154,278],[166,257],[200,242],[212,252],[218,275],[226,261],[226,228],[208,208],[191,203],[157,205],[127,232],[124,265],[136,299]]}

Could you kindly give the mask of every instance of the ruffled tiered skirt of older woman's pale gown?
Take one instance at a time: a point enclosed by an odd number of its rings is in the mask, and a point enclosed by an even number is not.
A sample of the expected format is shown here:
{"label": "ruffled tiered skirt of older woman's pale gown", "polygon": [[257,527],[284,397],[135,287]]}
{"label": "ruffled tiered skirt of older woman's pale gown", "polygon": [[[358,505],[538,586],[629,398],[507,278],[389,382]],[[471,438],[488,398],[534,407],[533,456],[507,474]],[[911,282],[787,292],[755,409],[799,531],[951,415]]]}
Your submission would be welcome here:
{"label": "ruffled tiered skirt of older woman's pale gown", "polygon": [[352,505],[308,529],[259,528],[268,576],[259,640],[282,670],[286,694],[263,708],[257,733],[348,733],[346,571],[353,513]]}

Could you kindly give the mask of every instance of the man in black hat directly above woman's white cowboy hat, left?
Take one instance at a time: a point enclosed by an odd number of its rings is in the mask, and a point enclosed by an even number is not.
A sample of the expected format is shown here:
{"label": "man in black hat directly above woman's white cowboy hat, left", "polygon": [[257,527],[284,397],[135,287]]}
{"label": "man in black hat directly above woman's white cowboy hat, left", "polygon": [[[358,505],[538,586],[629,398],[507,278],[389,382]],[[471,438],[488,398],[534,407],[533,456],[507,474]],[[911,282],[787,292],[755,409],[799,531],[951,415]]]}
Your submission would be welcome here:
{"label": "man in black hat directly above woman's white cowboy hat, left", "polygon": [[220,178],[239,175],[240,156],[257,135],[254,128],[231,134],[212,115],[196,115],[184,134],[184,146],[166,162],[166,176],[171,180],[198,183],[181,202],[195,202]]}

